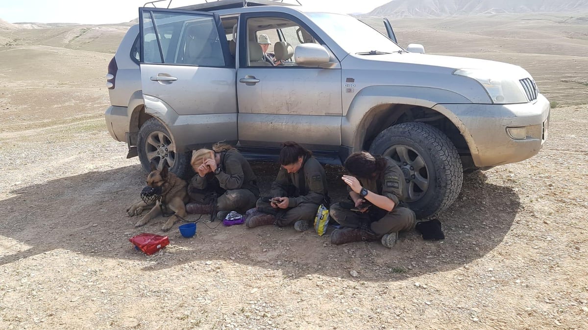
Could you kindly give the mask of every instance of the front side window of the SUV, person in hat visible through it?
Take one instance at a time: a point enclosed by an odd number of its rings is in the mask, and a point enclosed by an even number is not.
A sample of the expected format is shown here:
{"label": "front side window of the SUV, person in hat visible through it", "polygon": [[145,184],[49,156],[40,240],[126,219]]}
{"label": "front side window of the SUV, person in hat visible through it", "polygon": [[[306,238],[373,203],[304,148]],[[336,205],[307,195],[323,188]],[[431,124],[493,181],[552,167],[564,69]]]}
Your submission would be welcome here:
{"label": "front side window of the SUV, person in hat visible through it", "polygon": [[285,18],[250,18],[247,30],[248,66],[296,67],[296,46],[315,43],[306,29]]}

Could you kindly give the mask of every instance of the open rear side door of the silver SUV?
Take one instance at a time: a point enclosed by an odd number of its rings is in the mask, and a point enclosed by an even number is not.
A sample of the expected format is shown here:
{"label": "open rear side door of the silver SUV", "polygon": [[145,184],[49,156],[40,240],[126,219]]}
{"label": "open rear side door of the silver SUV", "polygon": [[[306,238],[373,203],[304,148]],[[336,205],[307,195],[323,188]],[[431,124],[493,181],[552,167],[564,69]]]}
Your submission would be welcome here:
{"label": "open rear side door of the silver SUV", "polygon": [[235,63],[218,14],[139,8],[145,112],[177,151],[237,141]]}

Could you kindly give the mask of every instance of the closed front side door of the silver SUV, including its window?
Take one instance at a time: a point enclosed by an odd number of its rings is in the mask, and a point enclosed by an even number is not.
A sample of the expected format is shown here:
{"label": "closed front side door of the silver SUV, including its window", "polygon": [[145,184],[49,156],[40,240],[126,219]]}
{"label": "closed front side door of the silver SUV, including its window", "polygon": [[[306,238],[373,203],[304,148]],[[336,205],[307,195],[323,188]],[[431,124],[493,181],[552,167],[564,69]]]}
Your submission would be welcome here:
{"label": "closed front side door of the silver SUV, including its window", "polygon": [[[267,38],[266,38],[267,37]],[[259,42],[269,38],[268,63]],[[322,43],[297,18],[276,12],[242,14],[239,21],[239,142],[242,146],[277,148],[289,140],[314,150],[341,145],[341,70],[296,65],[300,43]],[[278,45],[278,43],[281,43]],[[288,44],[290,48],[288,48]],[[279,50],[282,51],[279,51]]]}

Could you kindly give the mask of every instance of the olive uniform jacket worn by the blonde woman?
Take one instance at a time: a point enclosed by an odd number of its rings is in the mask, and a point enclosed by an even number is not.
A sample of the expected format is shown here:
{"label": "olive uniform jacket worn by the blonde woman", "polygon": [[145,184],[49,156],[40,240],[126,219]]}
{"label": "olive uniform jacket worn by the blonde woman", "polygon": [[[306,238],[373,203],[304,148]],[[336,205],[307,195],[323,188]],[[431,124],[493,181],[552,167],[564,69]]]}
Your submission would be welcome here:
{"label": "olive uniform jacket worn by the blonde woman", "polygon": [[[235,149],[220,153],[219,174],[208,173],[205,177],[196,174],[192,178],[192,186],[196,189],[206,189],[208,180],[216,179],[224,190],[248,189],[255,196],[259,196],[256,176],[249,162]],[[208,178],[207,178],[208,177]]]}

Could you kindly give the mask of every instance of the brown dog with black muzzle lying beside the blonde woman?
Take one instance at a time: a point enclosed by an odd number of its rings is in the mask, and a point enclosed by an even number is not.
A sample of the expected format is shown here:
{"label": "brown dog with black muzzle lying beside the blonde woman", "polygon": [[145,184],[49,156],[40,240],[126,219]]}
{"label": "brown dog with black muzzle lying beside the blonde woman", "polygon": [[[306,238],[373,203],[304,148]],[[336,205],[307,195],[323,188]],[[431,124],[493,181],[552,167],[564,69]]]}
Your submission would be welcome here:
{"label": "brown dog with black muzzle lying beside the blonde woman", "polygon": [[189,200],[188,191],[186,190],[188,184],[186,184],[186,181],[177,177],[176,174],[169,172],[168,167],[163,167],[163,170],[160,171],[154,164],[151,164],[151,173],[147,177],[147,186],[152,188],[161,187],[161,198],[158,198],[154,205],[149,205],[145,201],[139,201],[126,209],[126,213],[129,217],[132,217],[141,214],[143,210],[151,208],[151,211],[143,215],[141,220],[135,224],[135,227],[141,227],[148,223],[149,220],[158,215],[162,215],[162,203],[163,212],[174,215],[169,217],[169,220],[163,225],[161,230],[168,231],[173,227],[173,224],[179,220],[176,214],[182,218],[186,217],[186,203]]}

